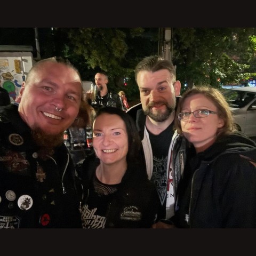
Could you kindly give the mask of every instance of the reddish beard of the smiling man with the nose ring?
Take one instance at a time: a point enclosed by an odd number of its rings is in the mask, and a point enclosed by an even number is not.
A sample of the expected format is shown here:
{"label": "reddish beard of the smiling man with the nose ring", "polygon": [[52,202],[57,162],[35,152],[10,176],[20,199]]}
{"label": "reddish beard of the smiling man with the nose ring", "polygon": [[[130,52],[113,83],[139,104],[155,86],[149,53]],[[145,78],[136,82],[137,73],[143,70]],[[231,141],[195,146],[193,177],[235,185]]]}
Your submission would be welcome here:
{"label": "reddish beard of the smiling man with the nose ring", "polygon": [[54,148],[63,142],[63,132],[59,134],[46,134],[41,129],[36,128],[31,131],[32,138],[39,146],[38,156],[46,159],[54,154]]}

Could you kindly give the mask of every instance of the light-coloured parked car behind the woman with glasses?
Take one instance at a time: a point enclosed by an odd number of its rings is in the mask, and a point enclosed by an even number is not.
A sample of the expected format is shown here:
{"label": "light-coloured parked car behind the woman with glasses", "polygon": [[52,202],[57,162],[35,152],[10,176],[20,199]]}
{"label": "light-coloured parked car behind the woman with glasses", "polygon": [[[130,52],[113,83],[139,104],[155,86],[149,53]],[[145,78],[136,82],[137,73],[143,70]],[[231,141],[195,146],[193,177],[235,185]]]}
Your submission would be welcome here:
{"label": "light-coloured parked car behind the woman with glasses", "polygon": [[223,92],[239,131],[256,136],[256,87],[240,87]]}

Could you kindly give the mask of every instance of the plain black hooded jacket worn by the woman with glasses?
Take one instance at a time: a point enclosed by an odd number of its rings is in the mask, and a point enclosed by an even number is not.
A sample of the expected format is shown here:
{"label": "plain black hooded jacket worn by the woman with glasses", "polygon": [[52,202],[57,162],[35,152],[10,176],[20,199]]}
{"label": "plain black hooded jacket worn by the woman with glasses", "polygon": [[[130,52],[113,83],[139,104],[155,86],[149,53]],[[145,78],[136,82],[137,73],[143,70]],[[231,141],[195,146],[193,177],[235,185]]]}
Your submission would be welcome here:
{"label": "plain black hooded jacket worn by the woman with glasses", "polygon": [[256,228],[254,141],[226,135],[188,161],[172,219],[176,226]]}

